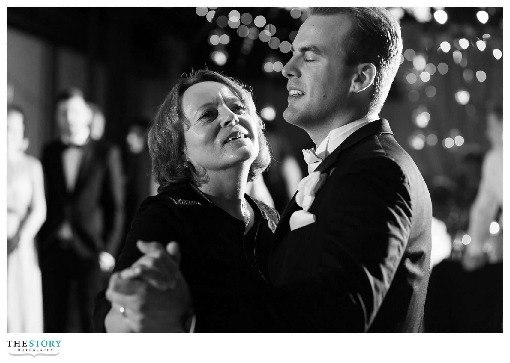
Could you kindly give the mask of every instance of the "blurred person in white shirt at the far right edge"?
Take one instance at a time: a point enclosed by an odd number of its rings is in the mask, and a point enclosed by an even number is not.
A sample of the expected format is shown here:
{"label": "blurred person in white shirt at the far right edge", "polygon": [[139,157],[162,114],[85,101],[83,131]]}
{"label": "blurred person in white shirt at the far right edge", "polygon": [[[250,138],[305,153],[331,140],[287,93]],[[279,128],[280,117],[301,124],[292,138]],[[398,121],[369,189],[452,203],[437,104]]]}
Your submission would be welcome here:
{"label": "blurred person in white shirt at the far right edge", "polygon": [[475,202],[470,209],[468,235],[471,243],[467,245],[463,265],[473,270],[486,262],[484,245],[490,237],[490,225],[498,221],[497,237],[486,247],[492,262],[503,260],[503,107],[496,104],[487,116],[487,137],[491,149],[483,159],[482,174]]}

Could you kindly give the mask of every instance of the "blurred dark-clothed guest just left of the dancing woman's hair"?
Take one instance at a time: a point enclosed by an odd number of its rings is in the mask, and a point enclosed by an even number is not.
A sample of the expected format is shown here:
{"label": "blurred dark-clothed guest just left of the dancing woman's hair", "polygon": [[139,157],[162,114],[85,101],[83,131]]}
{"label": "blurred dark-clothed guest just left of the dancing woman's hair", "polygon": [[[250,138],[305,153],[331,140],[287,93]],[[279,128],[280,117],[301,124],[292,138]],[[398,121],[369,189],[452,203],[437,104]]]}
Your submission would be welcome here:
{"label": "blurred dark-clothed guest just left of the dancing woman's hair", "polygon": [[147,148],[147,128],[150,120],[137,118],[127,127],[127,150],[124,158],[126,171],[126,234],[138,207],[143,200],[158,193],[151,173],[149,149]]}

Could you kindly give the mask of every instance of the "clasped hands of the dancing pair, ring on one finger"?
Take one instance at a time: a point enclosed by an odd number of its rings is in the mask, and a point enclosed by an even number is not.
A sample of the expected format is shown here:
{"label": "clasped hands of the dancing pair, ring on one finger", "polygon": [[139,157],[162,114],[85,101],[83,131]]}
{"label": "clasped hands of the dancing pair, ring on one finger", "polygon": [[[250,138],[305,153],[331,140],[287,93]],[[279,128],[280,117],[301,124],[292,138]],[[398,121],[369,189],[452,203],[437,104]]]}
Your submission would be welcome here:
{"label": "clasped hands of the dancing pair, ring on one finger", "polygon": [[179,270],[179,245],[170,242],[165,248],[158,242],[138,241],[137,246],[144,255],[110,278],[107,331],[184,331],[182,318],[192,300]]}

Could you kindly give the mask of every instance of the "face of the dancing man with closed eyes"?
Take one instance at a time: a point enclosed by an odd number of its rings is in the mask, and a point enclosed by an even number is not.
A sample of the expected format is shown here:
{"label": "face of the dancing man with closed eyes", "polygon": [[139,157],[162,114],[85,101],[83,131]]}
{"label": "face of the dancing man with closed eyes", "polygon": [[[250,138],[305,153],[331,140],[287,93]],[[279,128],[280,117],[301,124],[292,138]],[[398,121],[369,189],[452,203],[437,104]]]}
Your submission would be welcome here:
{"label": "face of the dancing man with closed eyes", "polygon": [[307,130],[343,116],[355,71],[344,64],[342,49],[350,26],[344,14],[312,15],[301,25],[282,71],[289,79],[287,122]]}

